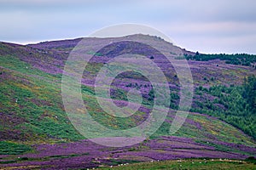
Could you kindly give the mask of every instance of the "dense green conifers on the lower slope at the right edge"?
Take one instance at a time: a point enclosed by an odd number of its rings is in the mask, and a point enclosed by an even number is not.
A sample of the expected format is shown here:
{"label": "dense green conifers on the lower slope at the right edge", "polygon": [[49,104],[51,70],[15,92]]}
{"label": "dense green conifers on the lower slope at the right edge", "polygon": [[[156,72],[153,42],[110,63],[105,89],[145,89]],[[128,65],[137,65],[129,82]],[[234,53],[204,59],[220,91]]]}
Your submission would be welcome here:
{"label": "dense green conifers on the lower slope at the right edge", "polygon": [[256,77],[247,77],[242,86],[197,88],[197,94],[211,94],[212,101],[195,101],[193,111],[216,116],[256,139]]}

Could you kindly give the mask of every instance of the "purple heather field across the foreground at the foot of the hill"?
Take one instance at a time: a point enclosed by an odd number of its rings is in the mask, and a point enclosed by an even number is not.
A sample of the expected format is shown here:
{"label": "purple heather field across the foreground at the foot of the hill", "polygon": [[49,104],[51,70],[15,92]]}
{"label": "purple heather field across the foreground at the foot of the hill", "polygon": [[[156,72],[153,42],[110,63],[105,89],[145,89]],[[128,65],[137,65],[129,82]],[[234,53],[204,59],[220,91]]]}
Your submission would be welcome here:
{"label": "purple heather field across the foreground at the foot of the hill", "polygon": [[[85,139],[73,143],[35,144],[31,146],[31,150],[26,150],[24,145],[2,142],[0,169],[83,169],[114,167],[139,162],[150,162],[149,164],[138,164],[139,167],[145,167],[146,169],[152,165],[152,169],[154,169],[157,166],[162,167],[164,165],[194,167],[195,165],[208,166],[211,164],[217,165],[218,163],[230,165],[230,162],[234,166],[247,167],[244,160],[253,157],[256,153],[254,147],[242,144],[228,144],[214,140],[203,143],[194,140],[181,137],[159,137],[158,139],[145,140],[143,143],[133,146],[113,148],[95,144]],[[11,150],[12,148],[14,150]],[[25,151],[25,153],[21,154],[19,151]],[[187,160],[190,158],[199,160],[192,163],[192,161]],[[170,161],[174,163],[172,165],[168,163],[168,160],[186,161]],[[154,165],[151,162],[157,163]],[[167,163],[165,164],[165,162]],[[253,167],[253,165],[250,166]],[[220,167],[223,166],[220,165]]]}

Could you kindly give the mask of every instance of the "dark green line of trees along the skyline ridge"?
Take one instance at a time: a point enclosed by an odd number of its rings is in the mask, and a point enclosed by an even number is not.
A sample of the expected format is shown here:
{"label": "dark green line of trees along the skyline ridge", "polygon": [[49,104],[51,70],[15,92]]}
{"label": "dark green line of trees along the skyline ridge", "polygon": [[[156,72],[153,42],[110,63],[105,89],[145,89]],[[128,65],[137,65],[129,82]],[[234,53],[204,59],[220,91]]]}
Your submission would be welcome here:
{"label": "dark green line of trees along the skyline ridge", "polygon": [[198,60],[198,61],[208,61],[211,59],[221,59],[225,60],[227,64],[232,65],[247,65],[253,66],[256,63],[256,55],[253,54],[200,54],[198,52],[195,55],[184,55],[186,59]]}

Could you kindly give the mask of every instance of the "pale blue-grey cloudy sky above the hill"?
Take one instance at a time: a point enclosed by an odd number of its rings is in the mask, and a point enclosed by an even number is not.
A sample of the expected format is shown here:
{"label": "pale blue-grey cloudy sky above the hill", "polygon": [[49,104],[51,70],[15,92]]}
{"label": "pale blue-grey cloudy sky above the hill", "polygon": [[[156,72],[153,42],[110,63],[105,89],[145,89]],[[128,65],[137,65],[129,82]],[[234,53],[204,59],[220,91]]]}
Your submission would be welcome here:
{"label": "pale blue-grey cloudy sky above the hill", "polygon": [[0,41],[87,37],[106,26],[141,24],[179,47],[256,54],[254,0],[0,0]]}

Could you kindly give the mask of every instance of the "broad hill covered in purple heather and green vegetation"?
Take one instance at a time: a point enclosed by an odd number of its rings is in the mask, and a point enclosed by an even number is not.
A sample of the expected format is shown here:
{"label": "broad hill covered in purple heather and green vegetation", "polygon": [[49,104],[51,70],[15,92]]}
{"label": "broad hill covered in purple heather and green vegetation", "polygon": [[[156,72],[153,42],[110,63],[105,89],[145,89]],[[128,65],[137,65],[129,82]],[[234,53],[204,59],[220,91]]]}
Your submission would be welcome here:
{"label": "broad hill covered in purple heather and green vegetation", "polygon": [[[196,55],[159,37],[143,35],[119,37],[119,45],[123,47],[120,49],[90,52],[96,54],[96,59],[91,60],[84,71],[81,86],[84,103],[97,122],[113,129],[136,127],[145,120],[154,104],[150,82],[133,72],[116,77],[111,97],[117,105],[125,105],[127,92],[131,88],[140,90],[143,105],[134,116],[125,120],[108,116],[96,102],[92,85],[97,71],[106,60],[126,53],[129,47],[140,51],[127,42],[133,38],[145,38],[177,62],[182,63],[185,56]],[[256,75],[254,67],[232,65],[215,58],[189,60],[195,83],[192,109],[183,127],[170,136],[173,113],[179,103],[179,82],[172,65],[165,64],[156,52],[151,54],[152,60],[165,68],[172,99],[172,111],[158,131],[141,144],[123,148],[102,146],[84,139],[69,121],[61,99],[63,68],[68,54],[80,40],[26,46],[0,43],[0,167],[66,169],[185,158],[241,160],[255,156],[255,110],[253,104],[247,105],[249,95],[244,94],[250,84],[244,82],[244,77]],[[85,42],[111,41],[113,38],[88,38]],[[148,50],[143,48],[141,53]]]}

